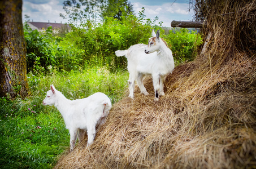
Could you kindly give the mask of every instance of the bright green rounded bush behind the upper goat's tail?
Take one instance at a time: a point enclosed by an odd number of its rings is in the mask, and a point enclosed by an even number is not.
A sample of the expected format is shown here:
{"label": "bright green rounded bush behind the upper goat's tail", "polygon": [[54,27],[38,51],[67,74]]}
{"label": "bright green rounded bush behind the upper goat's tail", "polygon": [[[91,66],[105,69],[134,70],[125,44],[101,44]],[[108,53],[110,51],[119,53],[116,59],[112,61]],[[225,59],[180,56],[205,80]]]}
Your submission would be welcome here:
{"label": "bright green rounded bush behind the upper goat's tail", "polygon": [[88,29],[74,28],[71,37],[79,48],[84,48],[89,65],[109,65],[111,70],[126,67],[125,57],[116,57],[115,51],[127,49],[136,43],[147,43],[151,26],[141,24],[136,16],[128,16],[119,21],[107,17],[104,24],[86,25]]}

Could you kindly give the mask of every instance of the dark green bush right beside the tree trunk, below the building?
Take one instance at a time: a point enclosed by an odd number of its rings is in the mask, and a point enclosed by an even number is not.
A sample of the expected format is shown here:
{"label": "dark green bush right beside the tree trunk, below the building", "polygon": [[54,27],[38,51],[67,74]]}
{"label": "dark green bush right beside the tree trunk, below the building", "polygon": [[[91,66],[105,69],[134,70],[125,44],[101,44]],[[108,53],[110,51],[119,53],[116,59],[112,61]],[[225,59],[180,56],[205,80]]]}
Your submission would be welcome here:
{"label": "dark green bush right beside the tree trunk, below the building", "polygon": [[24,28],[24,37],[27,42],[28,72],[41,74],[49,66],[70,71],[84,63],[81,59],[84,51],[67,42],[65,37],[54,36],[51,26],[45,32]]}

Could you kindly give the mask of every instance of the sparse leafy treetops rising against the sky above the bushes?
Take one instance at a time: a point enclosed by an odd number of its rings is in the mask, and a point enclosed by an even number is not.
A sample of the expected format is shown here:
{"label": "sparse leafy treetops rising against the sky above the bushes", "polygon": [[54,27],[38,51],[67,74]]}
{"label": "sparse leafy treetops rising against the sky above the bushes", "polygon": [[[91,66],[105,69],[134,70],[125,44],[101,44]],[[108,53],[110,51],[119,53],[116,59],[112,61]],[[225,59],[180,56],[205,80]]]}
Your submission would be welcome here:
{"label": "sparse leafy treetops rising against the sky above the bushes", "polygon": [[60,14],[74,25],[88,21],[100,23],[107,17],[122,20],[122,16],[133,15],[133,6],[127,0],[67,0],[63,2],[66,14]]}

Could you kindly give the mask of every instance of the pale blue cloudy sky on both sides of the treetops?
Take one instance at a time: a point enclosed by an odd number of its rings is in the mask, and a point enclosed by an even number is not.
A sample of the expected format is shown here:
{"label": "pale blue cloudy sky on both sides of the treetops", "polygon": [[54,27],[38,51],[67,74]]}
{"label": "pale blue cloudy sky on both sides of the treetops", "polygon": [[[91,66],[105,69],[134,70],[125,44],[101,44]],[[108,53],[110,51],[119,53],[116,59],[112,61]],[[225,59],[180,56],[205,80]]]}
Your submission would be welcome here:
{"label": "pale blue cloudy sky on both sides of the treetops", "polygon": [[[192,20],[193,10],[189,9],[189,0],[128,0],[133,5],[134,14],[138,16],[141,8],[145,8],[147,18],[154,19],[158,16],[158,21],[163,21],[162,26],[171,27],[172,20]],[[30,21],[66,23],[59,16],[65,14],[63,10],[64,0],[23,0],[23,22],[25,15],[29,16]]]}

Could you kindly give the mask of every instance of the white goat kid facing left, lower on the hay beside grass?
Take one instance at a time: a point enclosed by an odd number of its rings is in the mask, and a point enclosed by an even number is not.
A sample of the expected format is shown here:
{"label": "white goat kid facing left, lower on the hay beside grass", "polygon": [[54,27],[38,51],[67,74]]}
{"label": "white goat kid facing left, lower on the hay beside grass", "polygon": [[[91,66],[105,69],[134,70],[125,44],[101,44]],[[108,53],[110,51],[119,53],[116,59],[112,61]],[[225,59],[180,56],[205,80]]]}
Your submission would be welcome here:
{"label": "white goat kid facing left, lower on the hay beside grass", "polygon": [[47,91],[43,105],[54,105],[62,114],[66,128],[70,131],[70,152],[75,147],[77,132],[79,131],[79,141],[87,130],[87,146],[93,143],[96,135],[96,126],[100,126],[106,121],[111,101],[109,97],[101,92],[97,92],[87,98],[68,100],[61,92],[51,85],[51,90]]}

